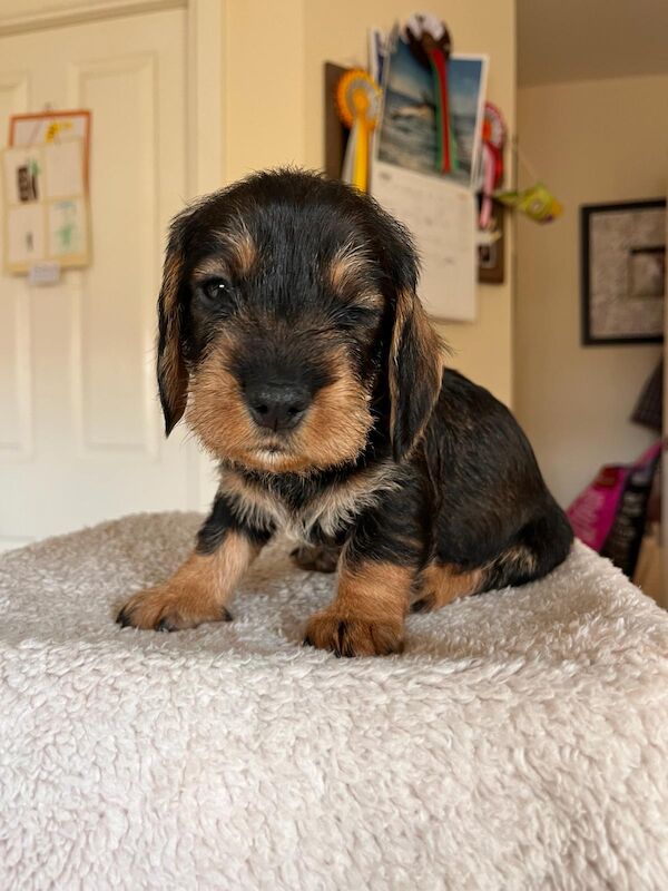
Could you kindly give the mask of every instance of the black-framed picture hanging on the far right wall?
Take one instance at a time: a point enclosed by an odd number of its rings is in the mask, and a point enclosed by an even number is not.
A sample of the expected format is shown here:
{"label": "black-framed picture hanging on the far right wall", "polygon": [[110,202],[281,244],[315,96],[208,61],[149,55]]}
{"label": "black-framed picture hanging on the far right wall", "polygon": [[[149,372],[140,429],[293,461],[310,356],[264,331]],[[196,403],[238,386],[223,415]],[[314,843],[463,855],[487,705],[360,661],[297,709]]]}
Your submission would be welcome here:
{"label": "black-framed picture hanging on the far right wall", "polygon": [[580,208],[582,343],[664,340],[666,202]]}

